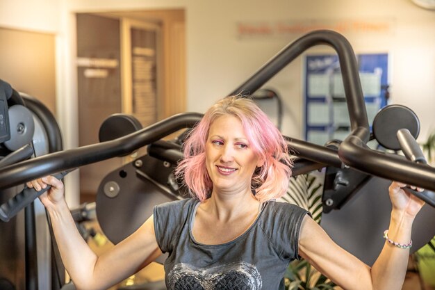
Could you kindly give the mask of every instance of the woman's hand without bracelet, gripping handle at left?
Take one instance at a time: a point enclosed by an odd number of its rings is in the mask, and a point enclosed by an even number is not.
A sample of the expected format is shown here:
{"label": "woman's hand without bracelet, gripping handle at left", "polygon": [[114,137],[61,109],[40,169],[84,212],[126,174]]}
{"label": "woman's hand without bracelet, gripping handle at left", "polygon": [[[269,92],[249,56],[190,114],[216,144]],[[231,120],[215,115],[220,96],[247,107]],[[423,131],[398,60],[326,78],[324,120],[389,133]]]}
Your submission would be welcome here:
{"label": "woman's hand without bracelet, gripping handle at left", "polygon": [[63,202],[63,182],[54,176],[46,176],[39,179],[32,180],[26,183],[28,188],[35,188],[36,191],[42,190],[42,188],[51,188],[40,195],[40,200],[44,207],[56,207],[56,204]]}

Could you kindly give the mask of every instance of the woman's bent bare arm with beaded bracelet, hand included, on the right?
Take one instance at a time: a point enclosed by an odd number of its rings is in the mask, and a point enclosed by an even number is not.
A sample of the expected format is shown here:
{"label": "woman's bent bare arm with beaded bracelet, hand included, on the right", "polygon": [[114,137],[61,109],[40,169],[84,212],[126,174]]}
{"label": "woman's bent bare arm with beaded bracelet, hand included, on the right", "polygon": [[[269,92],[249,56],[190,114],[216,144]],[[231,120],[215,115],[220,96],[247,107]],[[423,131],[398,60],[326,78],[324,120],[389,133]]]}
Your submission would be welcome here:
{"label": "woman's bent bare arm with beaded bracelet, hand included, on the right", "polygon": [[[409,243],[413,220],[424,204],[405,192],[404,186],[393,182],[389,188],[393,211],[388,238],[402,244]],[[400,290],[407,271],[409,248],[398,248],[386,242],[370,268],[336,245],[320,225],[306,216],[299,234],[299,255],[343,289]]]}

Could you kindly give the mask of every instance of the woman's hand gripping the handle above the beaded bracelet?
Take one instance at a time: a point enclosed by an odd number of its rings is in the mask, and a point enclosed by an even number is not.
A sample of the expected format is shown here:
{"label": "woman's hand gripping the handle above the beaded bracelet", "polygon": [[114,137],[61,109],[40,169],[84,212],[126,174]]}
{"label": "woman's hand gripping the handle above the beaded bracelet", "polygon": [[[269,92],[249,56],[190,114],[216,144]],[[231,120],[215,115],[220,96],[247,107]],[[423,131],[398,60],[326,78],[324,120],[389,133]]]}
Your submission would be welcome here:
{"label": "woman's hand gripping the handle above the beaded bracelet", "polygon": [[[407,184],[392,182],[388,188],[393,210],[403,211],[409,216],[416,216],[418,211],[425,205],[425,202],[417,198],[416,195],[409,193],[407,188],[404,188],[405,186]],[[415,188],[414,186],[411,186],[411,188],[416,191],[423,191],[422,188]]]}

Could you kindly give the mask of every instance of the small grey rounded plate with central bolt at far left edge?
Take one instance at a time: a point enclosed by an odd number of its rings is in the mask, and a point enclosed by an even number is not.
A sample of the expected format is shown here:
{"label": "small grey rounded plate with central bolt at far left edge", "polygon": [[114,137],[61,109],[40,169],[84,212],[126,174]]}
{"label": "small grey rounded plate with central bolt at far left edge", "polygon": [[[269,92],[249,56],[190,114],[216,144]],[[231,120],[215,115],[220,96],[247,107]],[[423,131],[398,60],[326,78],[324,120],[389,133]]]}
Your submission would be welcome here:
{"label": "small grey rounded plate with central bolt at far left edge", "polygon": [[10,139],[4,142],[8,150],[15,151],[31,143],[35,133],[35,122],[32,112],[22,105],[9,108]]}

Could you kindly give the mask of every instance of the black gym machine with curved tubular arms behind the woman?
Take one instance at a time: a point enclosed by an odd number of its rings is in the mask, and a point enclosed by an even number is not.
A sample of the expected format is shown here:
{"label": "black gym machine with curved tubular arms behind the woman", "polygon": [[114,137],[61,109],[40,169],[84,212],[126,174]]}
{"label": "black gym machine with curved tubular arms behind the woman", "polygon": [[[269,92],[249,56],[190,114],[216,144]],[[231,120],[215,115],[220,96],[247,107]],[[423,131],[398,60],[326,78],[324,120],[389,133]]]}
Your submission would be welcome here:
{"label": "black gym machine with curved tubular arms behind the woman", "polygon": [[[382,217],[389,214],[385,205],[385,198],[388,199],[387,184],[396,180],[425,188],[422,193],[409,189],[427,202],[413,225],[412,250],[418,250],[435,235],[435,169],[425,163],[416,144],[418,119],[408,108],[391,106],[379,112],[376,117],[379,126],[374,126],[374,131],[370,132],[356,58],[343,35],[334,31],[313,31],[304,35],[279,51],[231,95],[238,92],[253,94],[288,63],[315,45],[329,45],[338,54],[352,133],[344,140],[325,146],[287,137],[288,145],[296,154],[293,174],[334,168],[328,182],[325,181],[323,201],[327,207],[321,225],[334,240],[340,239],[340,236],[350,238],[354,235],[358,240],[361,239],[359,236],[363,236],[364,239],[359,243],[337,243],[368,264],[372,264],[380,248],[377,242],[368,246],[366,241],[375,241],[375,236],[379,238],[381,231],[374,225],[384,229]],[[397,118],[403,118],[404,115],[410,116],[409,122],[397,124],[398,127],[387,126],[391,123],[389,120],[402,120]],[[155,204],[185,197],[183,188],[179,187],[172,175],[172,169],[182,158],[180,147],[185,135],[181,134],[172,141],[161,139],[179,129],[192,127],[201,117],[198,113],[181,113],[114,140],[11,163],[0,168],[0,191],[44,175],[124,156],[147,146],[148,153],[145,156],[110,172],[99,187],[97,218],[108,239],[117,243],[151,215]],[[386,127],[386,131],[382,131]],[[382,140],[382,136],[388,136],[387,141]],[[370,138],[376,138],[380,144],[391,146],[389,148],[393,150],[401,150],[404,156],[370,149],[366,145]],[[394,140],[393,144],[387,144],[391,139]],[[3,213],[15,212],[30,203],[28,199],[22,199],[20,194],[1,205]],[[36,198],[35,194],[32,198]],[[352,216],[354,218],[350,221]],[[377,218],[367,220],[367,216]],[[361,223],[369,226],[360,227]],[[348,232],[348,227],[352,225],[354,232]],[[346,234],[343,235],[343,232]],[[381,237],[379,240],[384,243]],[[351,244],[356,248],[350,248]]]}

